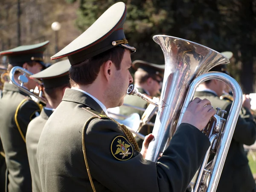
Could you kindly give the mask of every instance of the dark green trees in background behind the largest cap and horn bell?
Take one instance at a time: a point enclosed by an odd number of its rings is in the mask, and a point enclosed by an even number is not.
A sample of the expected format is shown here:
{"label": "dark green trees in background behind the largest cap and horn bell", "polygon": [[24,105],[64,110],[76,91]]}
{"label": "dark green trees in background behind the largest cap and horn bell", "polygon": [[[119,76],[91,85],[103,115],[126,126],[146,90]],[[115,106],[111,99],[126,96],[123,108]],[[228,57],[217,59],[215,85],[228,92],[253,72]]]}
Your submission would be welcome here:
{"label": "dark green trees in background behind the largest cap and horn bell", "polygon": [[[70,0],[69,0],[70,1]],[[118,0],[80,0],[76,26],[83,32]],[[195,41],[207,47],[232,51],[228,67],[241,80],[245,93],[253,92],[256,47],[256,0],[124,0],[124,30],[137,48],[132,59],[163,64],[163,52],[152,40],[164,34]],[[244,78],[244,77],[247,78]]]}

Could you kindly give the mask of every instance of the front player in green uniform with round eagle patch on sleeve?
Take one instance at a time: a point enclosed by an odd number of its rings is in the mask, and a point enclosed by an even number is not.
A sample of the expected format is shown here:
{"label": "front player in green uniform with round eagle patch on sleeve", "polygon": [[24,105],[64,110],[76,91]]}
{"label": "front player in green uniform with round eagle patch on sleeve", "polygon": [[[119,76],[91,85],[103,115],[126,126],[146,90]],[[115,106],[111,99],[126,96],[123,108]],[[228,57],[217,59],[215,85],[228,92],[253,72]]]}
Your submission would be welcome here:
{"label": "front player in green uniform with round eagle patch on sleeve", "polygon": [[140,153],[131,132],[108,117],[107,108],[122,105],[133,82],[129,68],[136,49],[123,32],[126,10],[124,3],[114,4],[52,56],[68,56],[71,89],[38,142],[44,192],[182,192],[209,148],[208,137],[199,131],[215,112],[207,99],[190,103],[157,163],[145,160],[147,146]]}

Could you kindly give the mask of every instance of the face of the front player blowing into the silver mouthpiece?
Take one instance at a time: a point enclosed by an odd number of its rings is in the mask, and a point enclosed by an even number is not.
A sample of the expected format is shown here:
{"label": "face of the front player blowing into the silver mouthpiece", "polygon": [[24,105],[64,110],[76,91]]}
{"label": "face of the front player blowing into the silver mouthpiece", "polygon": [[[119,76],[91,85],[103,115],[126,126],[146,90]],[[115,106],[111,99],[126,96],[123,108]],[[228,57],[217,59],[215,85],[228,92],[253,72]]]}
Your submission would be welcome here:
{"label": "face of the front player blowing into the silver mouthpiece", "polygon": [[130,83],[133,82],[131,73],[131,53],[125,49],[124,56],[121,61],[120,70],[115,70],[111,82],[111,107],[117,107],[123,104],[126,90]]}

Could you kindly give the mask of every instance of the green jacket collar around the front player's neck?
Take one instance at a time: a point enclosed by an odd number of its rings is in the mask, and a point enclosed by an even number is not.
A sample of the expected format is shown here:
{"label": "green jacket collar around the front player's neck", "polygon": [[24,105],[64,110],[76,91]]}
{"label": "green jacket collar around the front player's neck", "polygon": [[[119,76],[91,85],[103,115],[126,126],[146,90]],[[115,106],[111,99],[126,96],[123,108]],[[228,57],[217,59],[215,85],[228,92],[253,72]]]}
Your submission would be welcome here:
{"label": "green jacket collar around the front player's neck", "polygon": [[80,103],[93,111],[107,115],[93,98],[79,90],[66,89],[62,101]]}

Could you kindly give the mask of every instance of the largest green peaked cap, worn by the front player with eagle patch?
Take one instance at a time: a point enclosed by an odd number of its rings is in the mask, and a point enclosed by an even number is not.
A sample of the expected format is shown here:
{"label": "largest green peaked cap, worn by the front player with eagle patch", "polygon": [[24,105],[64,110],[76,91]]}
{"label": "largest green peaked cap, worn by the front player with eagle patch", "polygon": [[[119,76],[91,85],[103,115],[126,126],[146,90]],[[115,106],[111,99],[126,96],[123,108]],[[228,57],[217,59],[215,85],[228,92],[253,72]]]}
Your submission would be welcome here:
{"label": "largest green peaked cap, worn by the front player with eagle patch", "polygon": [[115,3],[105,11],[85,32],[51,57],[67,57],[71,65],[78,64],[116,46],[135,52],[128,45],[123,31],[126,19],[126,6],[123,2]]}

